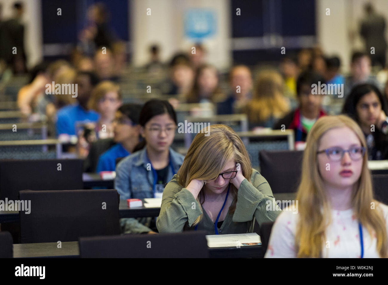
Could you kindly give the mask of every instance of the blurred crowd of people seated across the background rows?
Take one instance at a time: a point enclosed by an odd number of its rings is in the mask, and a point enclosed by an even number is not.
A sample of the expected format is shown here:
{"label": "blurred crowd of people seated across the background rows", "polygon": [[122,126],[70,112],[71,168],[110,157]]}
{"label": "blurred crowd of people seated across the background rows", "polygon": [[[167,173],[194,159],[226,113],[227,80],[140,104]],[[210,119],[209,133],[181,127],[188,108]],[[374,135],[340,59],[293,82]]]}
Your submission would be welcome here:
{"label": "blurred crowd of people seated across the background rows", "polygon": [[[20,14],[23,7],[16,5],[15,11]],[[168,100],[175,109],[180,104],[192,104],[195,112],[201,103],[210,103],[215,113],[204,114],[246,114],[249,130],[293,129],[297,149],[303,149],[312,125],[327,114],[324,105],[330,109],[331,104],[341,104],[342,112],[362,126],[371,146],[370,158],[388,159],[388,69],[380,53],[376,60],[376,54],[353,52],[350,74],[341,71],[339,57],[326,55],[319,47],[288,53],[271,69],[236,64],[221,73],[208,63],[206,48],[200,43],[178,52],[168,62],[161,60],[161,47],[154,44],[149,47],[149,62],[131,69],[126,46],[113,36],[108,17],[104,6],[92,5],[80,44],[69,59],[35,66],[29,71],[29,83],[17,95],[17,105],[29,121],[48,122],[55,126],[51,136],[77,144],[69,146],[68,151],[87,157],[92,142],[118,140],[122,136],[120,122],[136,121],[123,102],[139,99],[137,103],[144,103],[142,97],[150,95],[145,86],[152,85],[151,95]],[[362,35],[370,33],[370,26],[363,24]],[[379,64],[378,72],[372,73],[372,62]],[[152,84],[145,84],[136,98],[130,98],[128,94],[135,91],[126,88],[136,86],[128,84],[138,78],[146,83],[149,79]],[[312,85],[318,82],[343,84],[344,96],[314,94]],[[76,85],[77,95],[47,92],[55,90],[57,84]],[[370,130],[371,124],[376,130]],[[125,140],[122,145],[126,145]]]}

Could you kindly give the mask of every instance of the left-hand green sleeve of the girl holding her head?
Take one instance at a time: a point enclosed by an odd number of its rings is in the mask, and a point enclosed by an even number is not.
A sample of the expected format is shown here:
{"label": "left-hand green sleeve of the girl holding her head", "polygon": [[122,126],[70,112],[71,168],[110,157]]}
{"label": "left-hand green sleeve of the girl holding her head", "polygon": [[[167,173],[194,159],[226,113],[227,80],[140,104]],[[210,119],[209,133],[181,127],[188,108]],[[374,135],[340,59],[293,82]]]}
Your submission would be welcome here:
{"label": "left-hand green sleeve of the girl holding her head", "polygon": [[175,177],[166,185],[163,191],[160,214],[156,227],[160,233],[180,232],[188,222],[192,226],[202,214],[197,200],[186,188],[182,188]]}

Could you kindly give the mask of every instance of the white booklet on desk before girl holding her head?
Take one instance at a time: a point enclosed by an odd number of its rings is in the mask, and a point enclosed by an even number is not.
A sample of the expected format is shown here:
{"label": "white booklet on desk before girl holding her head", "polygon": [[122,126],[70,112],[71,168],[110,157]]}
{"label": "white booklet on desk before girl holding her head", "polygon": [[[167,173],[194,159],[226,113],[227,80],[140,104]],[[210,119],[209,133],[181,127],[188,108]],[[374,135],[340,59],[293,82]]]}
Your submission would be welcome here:
{"label": "white booklet on desk before girl holding her head", "polygon": [[231,235],[207,235],[208,247],[242,247],[261,245],[262,241],[257,233],[239,233]]}

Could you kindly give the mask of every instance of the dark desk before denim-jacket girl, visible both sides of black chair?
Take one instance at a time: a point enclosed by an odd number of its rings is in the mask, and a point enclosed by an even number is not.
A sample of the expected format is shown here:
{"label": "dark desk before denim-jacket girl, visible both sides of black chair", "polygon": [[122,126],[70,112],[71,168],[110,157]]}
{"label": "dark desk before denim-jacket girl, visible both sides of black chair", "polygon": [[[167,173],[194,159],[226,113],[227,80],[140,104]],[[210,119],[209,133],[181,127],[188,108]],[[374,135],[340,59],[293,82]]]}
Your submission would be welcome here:
{"label": "dark desk before denim-jacket girl, visible both sides of black chair", "polygon": [[[120,200],[120,218],[143,218],[159,216],[160,208],[128,208],[126,200]],[[0,211],[0,223],[10,223],[19,221],[19,211]]]}

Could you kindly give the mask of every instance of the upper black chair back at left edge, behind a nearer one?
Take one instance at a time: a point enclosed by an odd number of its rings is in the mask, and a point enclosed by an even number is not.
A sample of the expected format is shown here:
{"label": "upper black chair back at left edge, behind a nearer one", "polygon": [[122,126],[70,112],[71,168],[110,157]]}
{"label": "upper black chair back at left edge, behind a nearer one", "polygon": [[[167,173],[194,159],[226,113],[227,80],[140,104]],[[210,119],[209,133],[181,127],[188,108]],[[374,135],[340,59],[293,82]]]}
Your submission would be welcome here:
{"label": "upper black chair back at left edge, behind a nearer one", "polygon": [[16,200],[21,190],[83,189],[81,159],[0,161],[0,198]]}

